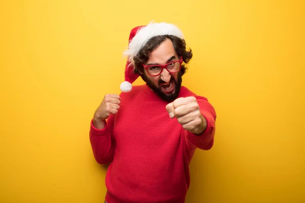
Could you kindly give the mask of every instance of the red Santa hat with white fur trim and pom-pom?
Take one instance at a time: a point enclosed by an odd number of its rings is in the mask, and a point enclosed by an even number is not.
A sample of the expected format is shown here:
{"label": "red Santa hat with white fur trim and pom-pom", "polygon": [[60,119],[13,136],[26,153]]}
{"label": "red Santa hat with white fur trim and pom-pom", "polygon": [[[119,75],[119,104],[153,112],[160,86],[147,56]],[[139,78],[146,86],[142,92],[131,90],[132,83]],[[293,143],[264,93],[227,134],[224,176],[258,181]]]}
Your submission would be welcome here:
{"label": "red Santa hat with white fur trim and pom-pom", "polygon": [[149,39],[161,36],[172,35],[180,39],[184,39],[182,31],[173,24],[149,23],[144,26],[137,26],[133,28],[129,36],[129,47],[124,52],[128,56],[125,66],[125,81],[120,84],[120,89],[123,92],[129,92],[132,89],[132,83],[139,77],[139,74],[134,73],[134,57],[145,46]]}

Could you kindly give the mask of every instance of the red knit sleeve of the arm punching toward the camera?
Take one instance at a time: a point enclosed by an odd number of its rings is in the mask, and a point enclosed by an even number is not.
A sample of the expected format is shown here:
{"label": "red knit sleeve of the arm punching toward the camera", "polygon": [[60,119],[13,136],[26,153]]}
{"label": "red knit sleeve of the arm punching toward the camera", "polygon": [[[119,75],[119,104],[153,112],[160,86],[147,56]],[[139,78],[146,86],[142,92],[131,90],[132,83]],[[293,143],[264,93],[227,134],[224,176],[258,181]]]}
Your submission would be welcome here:
{"label": "red knit sleeve of the arm punching toward the camera", "polygon": [[206,129],[201,134],[186,132],[186,143],[189,150],[199,148],[209,150],[214,144],[216,112],[208,100],[202,96],[195,96],[202,116],[207,121]]}

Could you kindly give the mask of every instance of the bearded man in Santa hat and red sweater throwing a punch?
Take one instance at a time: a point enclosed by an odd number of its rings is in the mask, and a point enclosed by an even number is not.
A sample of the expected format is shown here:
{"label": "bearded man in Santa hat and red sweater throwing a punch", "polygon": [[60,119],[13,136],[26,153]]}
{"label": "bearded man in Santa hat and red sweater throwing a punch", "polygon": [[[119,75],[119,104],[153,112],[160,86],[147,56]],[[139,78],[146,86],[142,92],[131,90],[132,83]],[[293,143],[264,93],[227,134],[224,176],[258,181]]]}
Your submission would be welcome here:
{"label": "bearded man in Santa hat and red sweater throwing a punch", "polygon": [[[212,147],[216,120],[206,98],[181,86],[192,50],[175,25],[150,23],[132,29],[125,54],[124,92],[105,95],[90,126],[97,162],[110,163],[106,202],[185,202],[188,165],[196,148]],[[132,88],[138,76],[146,85]]]}

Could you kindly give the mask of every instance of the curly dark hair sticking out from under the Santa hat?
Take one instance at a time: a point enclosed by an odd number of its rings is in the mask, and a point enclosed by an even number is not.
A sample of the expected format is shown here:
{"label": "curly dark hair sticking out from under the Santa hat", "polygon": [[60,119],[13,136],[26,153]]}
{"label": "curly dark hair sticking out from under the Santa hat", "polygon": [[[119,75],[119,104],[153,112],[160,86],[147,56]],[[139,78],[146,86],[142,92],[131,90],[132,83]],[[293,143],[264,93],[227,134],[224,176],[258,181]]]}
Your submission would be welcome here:
{"label": "curly dark hair sticking out from under the Santa hat", "polygon": [[[172,41],[174,49],[175,49],[178,57],[182,56],[182,60],[184,61],[184,63],[187,64],[191,60],[191,58],[193,57],[192,49],[189,48],[189,50],[187,50],[185,40],[182,40],[182,39],[172,36],[172,35],[156,36],[156,37],[149,39],[148,42],[145,44],[145,46],[142,49],[140,49],[139,53],[133,58],[135,74],[140,74],[141,72],[143,73],[142,64],[148,60],[149,54],[151,52],[153,52],[155,49],[157,49],[159,47],[159,45],[162,42],[164,42],[166,39],[170,39]],[[181,70],[180,70],[181,76],[184,75],[186,71],[187,71],[187,66],[185,64],[182,64]],[[141,75],[141,77],[142,77],[142,75]]]}

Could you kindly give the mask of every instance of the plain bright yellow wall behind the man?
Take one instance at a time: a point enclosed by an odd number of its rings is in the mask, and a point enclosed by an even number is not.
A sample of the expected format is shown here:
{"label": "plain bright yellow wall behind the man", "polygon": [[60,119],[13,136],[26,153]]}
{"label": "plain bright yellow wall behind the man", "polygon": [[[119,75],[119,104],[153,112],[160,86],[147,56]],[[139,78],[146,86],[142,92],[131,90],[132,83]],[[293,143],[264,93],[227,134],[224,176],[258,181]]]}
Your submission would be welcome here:
{"label": "plain bright yellow wall behind the man", "polygon": [[[304,1],[1,1],[0,202],[103,202],[89,123],[131,28],[166,21],[217,114],[186,202],[305,202]],[[142,84],[139,79],[135,84]]]}

